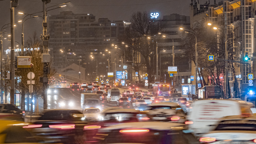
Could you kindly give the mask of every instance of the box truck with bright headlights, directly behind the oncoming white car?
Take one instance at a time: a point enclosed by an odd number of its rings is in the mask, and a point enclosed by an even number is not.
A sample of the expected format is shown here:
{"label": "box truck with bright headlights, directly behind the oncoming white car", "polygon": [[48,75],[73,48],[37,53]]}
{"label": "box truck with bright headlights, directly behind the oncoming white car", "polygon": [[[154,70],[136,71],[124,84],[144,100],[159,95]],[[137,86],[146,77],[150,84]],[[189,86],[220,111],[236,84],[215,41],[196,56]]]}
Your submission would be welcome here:
{"label": "box truck with bright headlights, directly behind the oncoming white car", "polygon": [[101,95],[100,94],[81,94],[81,108],[84,110],[85,108],[98,108],[102,110],[101,106]]}

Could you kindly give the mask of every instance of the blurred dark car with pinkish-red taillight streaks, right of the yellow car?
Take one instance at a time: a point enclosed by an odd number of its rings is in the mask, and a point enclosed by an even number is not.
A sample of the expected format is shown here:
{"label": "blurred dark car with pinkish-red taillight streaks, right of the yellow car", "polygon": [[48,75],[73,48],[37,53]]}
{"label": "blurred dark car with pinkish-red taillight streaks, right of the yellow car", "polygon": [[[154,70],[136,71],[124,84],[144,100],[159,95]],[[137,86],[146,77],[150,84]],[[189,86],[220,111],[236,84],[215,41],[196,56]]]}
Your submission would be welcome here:
{"label": "blurred dark car with pinkish-red taillight streaks, right of the yellow car", "polygon": [[30,126],[31,131],[51,142],[75,144],[84,142],[84,115],[77,110],[47,110]]}

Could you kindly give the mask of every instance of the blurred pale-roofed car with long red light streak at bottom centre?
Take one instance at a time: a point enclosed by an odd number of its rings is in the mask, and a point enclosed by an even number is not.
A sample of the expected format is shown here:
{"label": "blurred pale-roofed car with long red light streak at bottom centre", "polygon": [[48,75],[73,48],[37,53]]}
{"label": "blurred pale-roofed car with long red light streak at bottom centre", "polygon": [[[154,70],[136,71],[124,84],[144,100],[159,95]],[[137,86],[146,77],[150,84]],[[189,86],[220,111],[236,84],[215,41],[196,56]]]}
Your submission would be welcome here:
{"label": "blurred pale-roofed car with long red light streak at bottom centre", "polygon": [[95,140],[101,144],[199,144],[186,125],[180,123],[123,123],[99,129],[97,135]]}

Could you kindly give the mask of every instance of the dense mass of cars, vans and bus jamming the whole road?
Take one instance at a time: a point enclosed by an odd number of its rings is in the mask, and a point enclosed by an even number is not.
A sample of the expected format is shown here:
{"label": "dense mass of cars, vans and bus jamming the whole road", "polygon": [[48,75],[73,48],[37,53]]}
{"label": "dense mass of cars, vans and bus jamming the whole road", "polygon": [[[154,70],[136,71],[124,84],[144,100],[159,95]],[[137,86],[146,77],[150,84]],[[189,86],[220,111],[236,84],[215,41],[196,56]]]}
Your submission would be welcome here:
{"label": "dense mass of cars, vans and bus jamming the whole road", "polygon": [[[49,89],[49,94],[60,91],[59,87],[68,81],[54,79],[51,81],[55,90]],[[180,93],[172,93],[169,84],[155,83],[154,86],[156,92],[136,84],[117,88],[108,83],[71,82],[65,84],[64,89],[76,90],[80,101],[60,98],[54,108],[44,110],[33,120],[25,117],[20,109],[1,104],[0,125],[2,133],[7,134],[2,142],[256,143],[253,103],[234,98],[191,100]],[[19,136],[22,138],[9,138],[17,132],[24,133]]]}

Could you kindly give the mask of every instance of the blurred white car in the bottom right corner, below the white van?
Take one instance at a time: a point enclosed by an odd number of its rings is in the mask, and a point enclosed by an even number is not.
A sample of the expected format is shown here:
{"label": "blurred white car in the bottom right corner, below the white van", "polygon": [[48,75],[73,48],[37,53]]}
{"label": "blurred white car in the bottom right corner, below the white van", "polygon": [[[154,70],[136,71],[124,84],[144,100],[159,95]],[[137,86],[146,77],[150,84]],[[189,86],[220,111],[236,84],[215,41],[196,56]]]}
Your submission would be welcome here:
{"label": "blurred white car in the bottom right corner, below the white van", "polygon": [[255,144],[256,116],[227,116],[200,142],[211,144]]}

